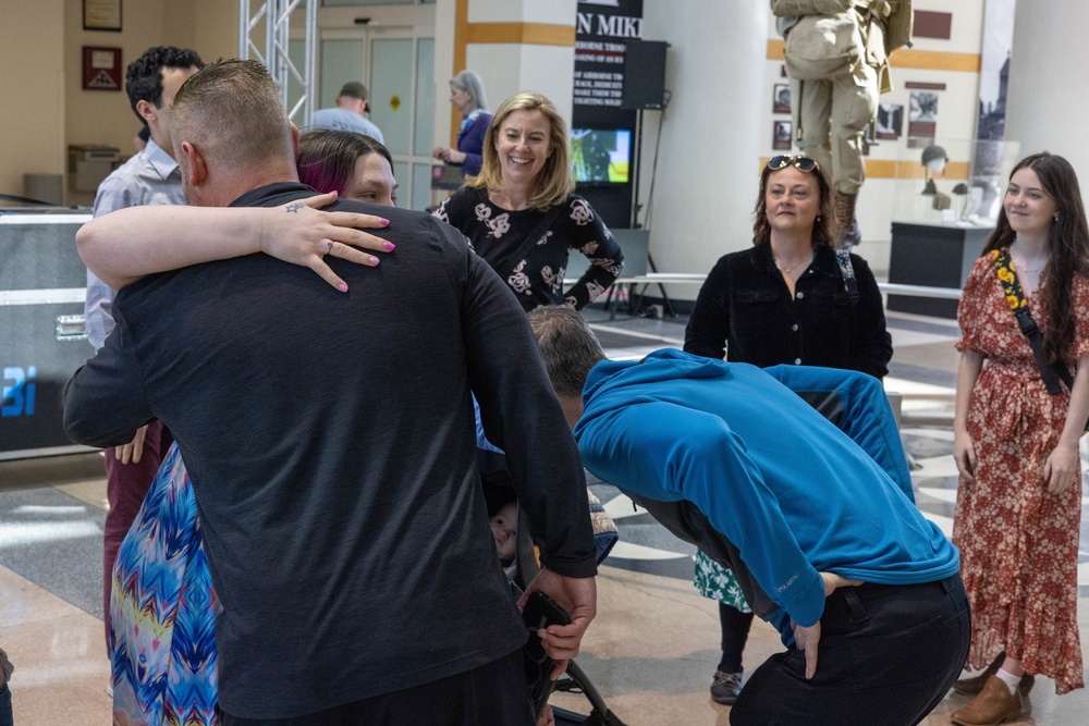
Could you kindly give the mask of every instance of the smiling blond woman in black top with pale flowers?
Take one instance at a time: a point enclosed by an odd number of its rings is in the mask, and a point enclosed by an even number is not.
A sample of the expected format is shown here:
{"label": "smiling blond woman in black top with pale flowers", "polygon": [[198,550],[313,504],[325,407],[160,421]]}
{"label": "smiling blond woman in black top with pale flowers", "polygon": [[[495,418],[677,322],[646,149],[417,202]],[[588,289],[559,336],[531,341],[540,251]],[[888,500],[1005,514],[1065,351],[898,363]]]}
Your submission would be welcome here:
{"label": "smiling blond woman in black top with pale flowers", "polygon": [[[461,230],[526,311],[539,305],[580,310],[613,284],[624,266],[624,254],[601,218],[573,194],[567,146],[567,124],[552,101],[516,94],[488,126],[480,174],[435,210]],[[564,293],[572,249],[590,267]]]}

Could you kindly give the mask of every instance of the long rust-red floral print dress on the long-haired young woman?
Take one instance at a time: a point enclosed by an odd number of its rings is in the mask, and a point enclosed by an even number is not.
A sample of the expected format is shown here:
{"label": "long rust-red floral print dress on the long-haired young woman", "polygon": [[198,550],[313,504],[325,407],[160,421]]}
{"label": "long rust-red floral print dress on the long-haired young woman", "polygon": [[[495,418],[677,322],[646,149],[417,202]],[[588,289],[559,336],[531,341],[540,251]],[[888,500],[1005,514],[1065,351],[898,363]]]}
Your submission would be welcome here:
{"label": "long rust-red floral print dress on the long-haired young woman", "polygon": [[[1043,287],[1028,298],[1041,330],[1048,313]],[[1089,354],[1089,279],[1075,275],[1074,350]],[[1001,651],[1026,673],[1054,678],[1055,691],[1081,688],[1077,622],[1080,481],[1049,494],[1043,466],[1066,420],[1069,395],[1044,387],[1028,340],[1020,332],[990,256],[976,260],[957,311],[962,339],[986,360],[968,404],[968,434],[976,451],[975,482],[960,481],[953,543],[971,604],[974,668]]]}

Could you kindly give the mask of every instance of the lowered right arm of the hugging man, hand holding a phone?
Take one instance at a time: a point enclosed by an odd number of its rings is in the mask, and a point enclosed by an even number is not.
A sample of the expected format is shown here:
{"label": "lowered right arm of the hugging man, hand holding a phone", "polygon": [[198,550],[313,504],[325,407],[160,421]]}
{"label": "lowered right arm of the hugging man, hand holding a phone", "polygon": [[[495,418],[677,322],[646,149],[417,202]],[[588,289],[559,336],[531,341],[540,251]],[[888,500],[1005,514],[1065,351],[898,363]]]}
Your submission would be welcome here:
{"label": "lowered right arm of the hugging man, hand holding a phone", "polygon": [[[499,275],[468,250],[461,233],[436,222],[462,251],[462,325],[473,391],[492,442],[506,454],[507,472],[543,569],[526,588],[540,590],[571,615],[571,625],[542,631],[558,661],[553,677],[578,652],[597,613],[594,534],[582,462],[552,391],[525,312]],[[525,598],[519,601],[519,607]]]}

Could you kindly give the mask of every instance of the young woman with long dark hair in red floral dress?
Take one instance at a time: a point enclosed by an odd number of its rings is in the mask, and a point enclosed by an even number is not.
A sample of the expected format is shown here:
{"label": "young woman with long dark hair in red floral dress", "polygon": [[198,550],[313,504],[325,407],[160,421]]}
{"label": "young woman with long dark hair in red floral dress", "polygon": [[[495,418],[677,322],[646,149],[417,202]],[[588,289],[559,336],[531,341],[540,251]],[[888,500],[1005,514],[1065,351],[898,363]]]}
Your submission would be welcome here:
{"label": "young woman with long dark hair in red floral dress", "polygon": [[[1011,298],[1027,303],[1043,368]],[[1084,686],[1078,446],[1089,415],[1089,224],[1064,158],[1037,153],[1014,167],[957,320],[953,543],[971,603],[968,665],[987,668],[953,686],[976,698],[952,722],[975,726],[1016,719],[1032,674],[1053,678],[1056,693]],[[1073,385],[1059,373],[1049,385],[1044,370],[1056,361]]]}

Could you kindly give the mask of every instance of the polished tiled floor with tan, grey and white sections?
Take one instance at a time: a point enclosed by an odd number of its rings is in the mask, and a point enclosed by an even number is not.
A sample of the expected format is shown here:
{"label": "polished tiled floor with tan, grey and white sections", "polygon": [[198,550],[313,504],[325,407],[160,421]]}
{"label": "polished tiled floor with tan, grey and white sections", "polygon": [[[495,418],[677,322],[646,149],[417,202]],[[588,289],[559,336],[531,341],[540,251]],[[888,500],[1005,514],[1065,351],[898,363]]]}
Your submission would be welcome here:
{"label": "polished tiled floor with tan, grey and white sections", "polygon": [[[623,316],[610,321],[601,311],[587,317],[612,357],[680,346],[684,337],[683,321]],[[904,436],[922,465],[914,472],[919,506],[949,531],[956,485],[951,432],[947,426],[913,421],[949,418],[956,328],[952,321],[891,313],[890,329],[896,354],[886,387],[908,395]],[[911,394],[939,398],[914,401]],[[579,664],[628,726],[729,723],[729,709],[708,697],[719,625],[715,604],[692,587],[692,547],[635,512],[615,489],[596,484],[594,490],[616,519],[622,541],[601,569],[599,615]],[[98,455],[0,463],[0,644],[16,665],[11,688],[17,726],[110,723],[99,602],[103,505]],[[1079,624],[1089,663],[1089,507],[1084,513]],[[779,649],[778,635],[757,622],[746,665],[755,667]],[[559,694],[553,702],[586,711],[580,696]],[[947,724],[946,714],[964,702],[947,698],[925,724]],[[1042,679],[1032,705],[1035,721],[1018,723],[1080,725],[1087,723],[1089,691],[1059,698]]]}

